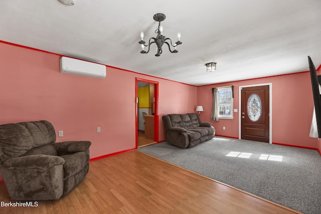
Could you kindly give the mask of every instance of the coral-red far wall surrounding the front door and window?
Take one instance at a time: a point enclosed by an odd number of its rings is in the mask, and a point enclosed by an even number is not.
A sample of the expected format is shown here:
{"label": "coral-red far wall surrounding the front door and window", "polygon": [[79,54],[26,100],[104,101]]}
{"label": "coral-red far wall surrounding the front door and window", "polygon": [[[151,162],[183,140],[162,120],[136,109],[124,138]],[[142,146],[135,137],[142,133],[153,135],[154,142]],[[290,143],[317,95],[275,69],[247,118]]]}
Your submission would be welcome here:
{"label": "coral-red far wall surrounding the front door and window", "polygon": [[[204,107],[201,119],[210,120],[212,88],[233,85],[233,108],[239,111],[239,86],[263,83],[272,83],[272,143],[321,150],[321,142],[309,137],[314,107],[309,72],[200,86],[197,91],[197,104]],[[212,122],[217,135],[239,137],[239,112],[234,112],[233,120],[220,119]]]}

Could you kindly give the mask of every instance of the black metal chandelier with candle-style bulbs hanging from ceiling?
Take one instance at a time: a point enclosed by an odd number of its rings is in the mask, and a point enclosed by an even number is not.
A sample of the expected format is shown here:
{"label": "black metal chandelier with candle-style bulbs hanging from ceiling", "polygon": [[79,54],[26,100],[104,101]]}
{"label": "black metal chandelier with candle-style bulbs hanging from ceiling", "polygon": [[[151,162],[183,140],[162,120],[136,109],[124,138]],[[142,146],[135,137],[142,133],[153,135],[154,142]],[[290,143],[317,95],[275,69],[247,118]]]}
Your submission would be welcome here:
{"label": "black metal chandelier with candle-style bulbs hanging from ceiling", "polygon": [[[158,28],[155,30],[155,33],[157,34],[157,36],[155,38],[154,37],[150,38],[148,45],[145,45],[145,42],[143,41],[144,32],[141,32],[140,33],[141,40],[138,42],[139,44],[141,44],[141,49],[142,49],[140,53],[147,54],[149,52],[150,45],[153,43],[156,43],[156,45],[157,45],[157,54],[155,54],[156,57],[161,56],[161,54],[163,53],[162,47],[163,47],[164,43],[168,45],[171,53],[179,52],[178,50],[176,50],[176,47],[178,45],[182,44],[182,42],[180,41],[181,34],[180,33],[177,34],[177,38],[178,38],[177,42],[175,43],[175,45],[173,45],[172,40],[170,38],[166,38],[165,36],[163,36],[163,26],[161,26],[161,22],[166,19],[166,16],[164,14],[155,14],[153,19],[156,22],[158,22]],[[150,41],[152,41],[152,42],[150,42]],[[171,41],[171,43],[168,43],[167,41]],[[171,46],[174,47],[173,51],[171,50]],[[144,51],[144,47],[148,47],[147,52]]]}

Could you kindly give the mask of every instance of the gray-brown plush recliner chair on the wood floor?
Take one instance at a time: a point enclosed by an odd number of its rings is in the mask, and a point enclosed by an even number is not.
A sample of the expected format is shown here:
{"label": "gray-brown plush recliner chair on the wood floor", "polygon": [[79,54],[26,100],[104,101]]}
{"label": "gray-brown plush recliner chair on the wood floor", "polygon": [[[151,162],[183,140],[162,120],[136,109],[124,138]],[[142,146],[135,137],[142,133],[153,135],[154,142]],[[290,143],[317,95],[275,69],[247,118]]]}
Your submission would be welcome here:
{"label": "gray-brown plush recliner chair on the wood floor", "polygon": [[58,199],[84,179],[91,142],[55,142],[46,120],[0,125],[0,171],[11,199]]}

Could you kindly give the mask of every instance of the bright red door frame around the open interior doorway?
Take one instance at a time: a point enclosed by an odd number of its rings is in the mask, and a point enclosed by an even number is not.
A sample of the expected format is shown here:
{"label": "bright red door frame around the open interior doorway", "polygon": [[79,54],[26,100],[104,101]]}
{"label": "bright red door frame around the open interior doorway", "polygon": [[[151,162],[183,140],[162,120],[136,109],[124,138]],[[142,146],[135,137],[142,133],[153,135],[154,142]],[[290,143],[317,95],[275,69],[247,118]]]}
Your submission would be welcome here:
{"label": "bright red door frame around the open interior doorway", "polygon": [[149,84],[154,84],[154,141],[158,143],[158,82],[152,81],[152,80],[146,80],[136,77],[136,84],[135,84],[135,135],[136,135],[136,143],[135,148],[138,147],[138,103],[137,103],[137,97],[138,97],[138,82],[144,82]]}

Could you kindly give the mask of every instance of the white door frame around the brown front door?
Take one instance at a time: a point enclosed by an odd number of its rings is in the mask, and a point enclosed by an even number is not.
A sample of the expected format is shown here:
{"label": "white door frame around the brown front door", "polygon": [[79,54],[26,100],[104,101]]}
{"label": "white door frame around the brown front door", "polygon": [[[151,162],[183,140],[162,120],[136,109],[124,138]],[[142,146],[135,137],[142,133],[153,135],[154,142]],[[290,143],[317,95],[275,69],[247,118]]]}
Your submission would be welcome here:
{"label": "white door frame around the brown front door", "polygon": [[272,83],[262,83],[255,85],[239,86],[239,139],[241,136],[241,92],[242,88],[255,87],[255,86],[269,86],[269,143],[272,144]]}

